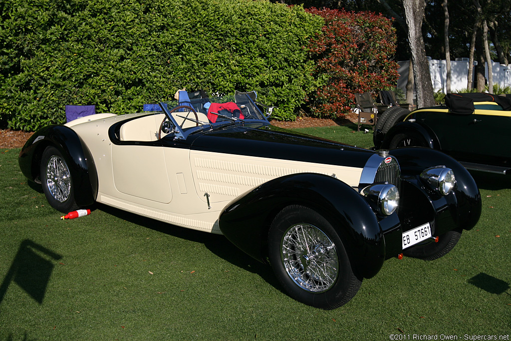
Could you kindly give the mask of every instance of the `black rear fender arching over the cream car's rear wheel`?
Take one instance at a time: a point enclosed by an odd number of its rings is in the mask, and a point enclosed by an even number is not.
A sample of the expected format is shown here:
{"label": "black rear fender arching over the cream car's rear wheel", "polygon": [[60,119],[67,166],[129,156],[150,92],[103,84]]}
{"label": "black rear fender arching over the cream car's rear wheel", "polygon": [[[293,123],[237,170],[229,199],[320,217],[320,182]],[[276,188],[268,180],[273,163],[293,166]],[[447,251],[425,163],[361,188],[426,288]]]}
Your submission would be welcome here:
{"label": "black rear fender arching over the cream car's rear wheel", "polygon": [[51,125],[35,132],[19,153],[21,172],[29,180],[37,181],[41,156],[48,146],[53,146],[62,153],[71,172],[78,206],[93,204],[98,195],[96,166],[87,146],[71,128]]}

